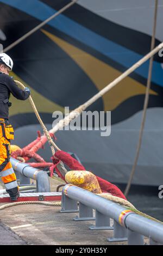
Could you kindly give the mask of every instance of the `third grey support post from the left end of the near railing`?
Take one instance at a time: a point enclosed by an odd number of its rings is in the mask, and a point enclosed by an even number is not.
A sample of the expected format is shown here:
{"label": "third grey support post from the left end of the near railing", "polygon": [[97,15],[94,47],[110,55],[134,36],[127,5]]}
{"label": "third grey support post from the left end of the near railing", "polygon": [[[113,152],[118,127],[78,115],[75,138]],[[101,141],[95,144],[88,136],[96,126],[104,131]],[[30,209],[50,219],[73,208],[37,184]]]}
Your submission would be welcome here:
{"label": "third grey support post from the left end of the near railing", "polygon": [[90,230],[112,230],[113,227],[110,227],[110,218],[101,212],[96,210],[96,225],[91,225]]}

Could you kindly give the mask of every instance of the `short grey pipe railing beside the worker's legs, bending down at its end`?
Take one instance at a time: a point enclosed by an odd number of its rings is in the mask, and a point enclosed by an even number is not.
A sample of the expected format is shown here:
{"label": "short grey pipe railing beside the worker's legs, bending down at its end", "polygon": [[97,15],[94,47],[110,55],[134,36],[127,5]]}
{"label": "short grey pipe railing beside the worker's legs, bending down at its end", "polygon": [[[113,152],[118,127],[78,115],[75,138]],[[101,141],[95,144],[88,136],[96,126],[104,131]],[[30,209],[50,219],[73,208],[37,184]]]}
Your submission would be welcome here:
{"label": "short grey pipe railing beside the worker's legs, bending down at its end", "polygon": [[36,180],[37,192],[51,192],[49,177],[46,172],[29,166],[28,163],[22,163],[13,157],[10,158],[12,168],[16,173],[17,179],[20,179],[21,185],[30,184],[30,179]]}

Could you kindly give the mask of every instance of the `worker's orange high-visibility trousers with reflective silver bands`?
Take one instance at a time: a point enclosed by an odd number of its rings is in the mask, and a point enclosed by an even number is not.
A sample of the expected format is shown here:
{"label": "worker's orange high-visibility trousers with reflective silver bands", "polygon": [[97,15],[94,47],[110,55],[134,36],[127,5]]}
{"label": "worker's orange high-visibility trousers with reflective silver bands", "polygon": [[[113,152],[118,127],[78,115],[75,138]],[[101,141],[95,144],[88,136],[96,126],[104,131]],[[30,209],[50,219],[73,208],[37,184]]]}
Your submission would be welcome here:
{"label": "worker's orange high-visibility trousers with reflective silver bands", "polygon": [[14,139],[14,129],[7,119],[0,118],[0,176],[10,197],[18,192],[16,175],[10,162],[10,140]]}

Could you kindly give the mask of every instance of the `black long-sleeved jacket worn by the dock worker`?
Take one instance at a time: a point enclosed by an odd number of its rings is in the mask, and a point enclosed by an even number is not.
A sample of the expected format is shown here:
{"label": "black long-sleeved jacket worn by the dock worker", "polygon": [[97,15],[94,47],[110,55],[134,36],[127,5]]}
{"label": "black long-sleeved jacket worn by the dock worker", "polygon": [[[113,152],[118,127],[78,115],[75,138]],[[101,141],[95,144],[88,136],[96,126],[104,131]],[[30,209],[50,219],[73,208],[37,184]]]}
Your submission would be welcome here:
{"label": "black long-sleeved jacket worn by the dock worker", "polygon": [[30,95],[29,92],[18,88],[17,84],[10,76],[0,72],[0,118],[8,119],[9,117],[9,105],[7,101],[10,97],[10,93],[18,100],[26,100]]}

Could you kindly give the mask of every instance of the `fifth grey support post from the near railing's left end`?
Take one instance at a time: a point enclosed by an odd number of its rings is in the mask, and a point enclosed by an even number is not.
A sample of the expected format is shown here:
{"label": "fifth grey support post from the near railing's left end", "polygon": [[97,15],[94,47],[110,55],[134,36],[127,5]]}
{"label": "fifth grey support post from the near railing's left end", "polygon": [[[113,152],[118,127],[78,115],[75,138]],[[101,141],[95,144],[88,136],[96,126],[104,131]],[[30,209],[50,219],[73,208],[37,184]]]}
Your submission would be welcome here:
{"label": "fifth grey support post from the near railing's left end", "polygon": [[144,236],[132,231],[130,229],[127,230],[128,235],[128,245],[143,245],[144,244]]}

